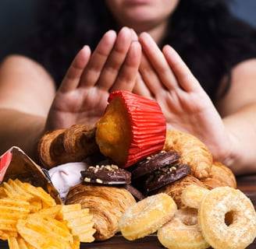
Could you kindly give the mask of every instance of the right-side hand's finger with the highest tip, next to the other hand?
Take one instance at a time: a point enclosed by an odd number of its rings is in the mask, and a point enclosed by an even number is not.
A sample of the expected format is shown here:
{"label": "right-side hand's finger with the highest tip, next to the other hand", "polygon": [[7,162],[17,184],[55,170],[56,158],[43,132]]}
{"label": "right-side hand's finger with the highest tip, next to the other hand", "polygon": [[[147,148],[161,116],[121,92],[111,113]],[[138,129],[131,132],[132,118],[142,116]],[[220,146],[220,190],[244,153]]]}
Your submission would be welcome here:
{"label": "right-side hand's finger with the highest tip, next to the other hand", "polygon": [[173,74],[169,64],[165,60],[164,54],[158,48],[155,40],[148,33],[141,33],[139,36],[140,44],[148,60],[150,61],[155,72],[158,74],[158,78],[168,89],[174,89],[178,86],[176,77]]}

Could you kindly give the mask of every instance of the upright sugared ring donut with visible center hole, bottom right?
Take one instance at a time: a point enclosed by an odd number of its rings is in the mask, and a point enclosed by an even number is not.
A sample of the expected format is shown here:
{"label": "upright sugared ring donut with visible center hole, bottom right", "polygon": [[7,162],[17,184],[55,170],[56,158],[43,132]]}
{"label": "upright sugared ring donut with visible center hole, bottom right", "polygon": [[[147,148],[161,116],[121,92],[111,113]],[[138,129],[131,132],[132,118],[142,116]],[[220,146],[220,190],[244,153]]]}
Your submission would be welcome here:
{"label": "upright sugared ring donut with visible center hole, bottom right", "polygon": [[[226,214],[232,216],[225,223]],[[238,189],[219,187],[209,191],[198,209],[204,239],[215,249],[242,249],[256,237],[256,212],[251,200]]]}

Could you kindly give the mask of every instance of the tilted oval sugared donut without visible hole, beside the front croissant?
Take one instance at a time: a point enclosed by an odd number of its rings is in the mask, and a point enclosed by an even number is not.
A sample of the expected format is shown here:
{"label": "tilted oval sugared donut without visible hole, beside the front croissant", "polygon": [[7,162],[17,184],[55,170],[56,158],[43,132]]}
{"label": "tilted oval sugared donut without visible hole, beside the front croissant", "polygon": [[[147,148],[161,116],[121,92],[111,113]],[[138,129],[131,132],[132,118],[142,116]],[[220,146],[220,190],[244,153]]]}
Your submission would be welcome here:
{"label": "tilted oval sugared donut without visible hole, beside the front croissant", "polygon": [[126,209],[119,219],[119,230],[127,240],[145,237],[172,219],[176,209],[169,195],[150,195]]}

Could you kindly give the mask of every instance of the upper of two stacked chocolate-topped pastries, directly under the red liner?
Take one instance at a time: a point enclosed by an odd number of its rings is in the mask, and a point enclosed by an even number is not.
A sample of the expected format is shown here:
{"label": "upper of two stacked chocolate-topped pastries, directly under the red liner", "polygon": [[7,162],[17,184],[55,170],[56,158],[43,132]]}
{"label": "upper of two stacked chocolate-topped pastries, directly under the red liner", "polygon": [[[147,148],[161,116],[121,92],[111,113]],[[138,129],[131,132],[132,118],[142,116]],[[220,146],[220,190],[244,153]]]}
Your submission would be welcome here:
{"label": "upper of two stacked chocolate-topped pastries, directly under the red liner", "polygon": [[137,179],[145,174],[150,174],[155,170],[175,163],[179,159],[180,153],[176,151],[162,151],[158,154],[148,156],[147,159],[137,163],[137,167],[132,170],[132,177],[133,179]]}

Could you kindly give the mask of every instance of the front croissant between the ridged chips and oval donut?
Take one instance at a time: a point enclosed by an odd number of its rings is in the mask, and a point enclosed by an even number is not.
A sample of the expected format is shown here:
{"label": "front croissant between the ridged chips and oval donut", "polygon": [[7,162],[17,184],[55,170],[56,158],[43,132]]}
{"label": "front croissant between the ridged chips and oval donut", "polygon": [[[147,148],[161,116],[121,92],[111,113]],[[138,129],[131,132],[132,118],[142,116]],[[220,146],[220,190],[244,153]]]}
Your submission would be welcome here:
{"label": "front croissant between the ridged chips and oval donut", "polygon": [[125,188],[94,184],[77,184],[70,188],[66,204],[80,203],[89,208],[93,215],[95,240],[108,240],[119,232],[119,218],[136,203],[133,195]]}

